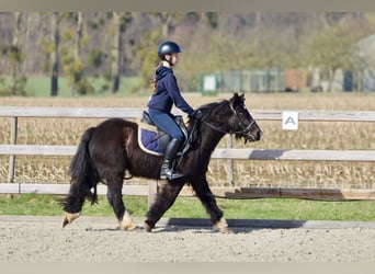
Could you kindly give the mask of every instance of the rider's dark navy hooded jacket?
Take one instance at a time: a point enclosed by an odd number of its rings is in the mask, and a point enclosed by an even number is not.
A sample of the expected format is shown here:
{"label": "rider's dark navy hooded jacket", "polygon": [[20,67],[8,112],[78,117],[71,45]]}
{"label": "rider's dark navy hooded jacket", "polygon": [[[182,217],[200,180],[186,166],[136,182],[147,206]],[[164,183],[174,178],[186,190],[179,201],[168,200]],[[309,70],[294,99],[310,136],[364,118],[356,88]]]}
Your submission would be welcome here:
{"label": "rider's dark navy hooded jacket", "polygon": [[149,109],[171,112],[173,104],[189,116],[194,115],[194,110],[182,98],[171,68],[159,66],[156,70],[156,90],[147,106]]}

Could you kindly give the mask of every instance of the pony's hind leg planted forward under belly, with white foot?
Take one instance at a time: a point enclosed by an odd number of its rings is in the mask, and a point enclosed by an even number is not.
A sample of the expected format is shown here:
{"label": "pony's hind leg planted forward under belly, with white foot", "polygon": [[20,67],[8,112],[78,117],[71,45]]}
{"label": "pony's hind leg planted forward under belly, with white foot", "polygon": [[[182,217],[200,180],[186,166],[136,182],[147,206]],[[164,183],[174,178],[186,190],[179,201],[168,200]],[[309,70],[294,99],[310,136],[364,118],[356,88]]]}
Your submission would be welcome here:
{"label": "pony's hind leg planted forward under belly, with white foot", "polygon": [[123,202],[122,178],[117,178],[116,180],[109,182],[107,186],[109,187],[107,187],[106,197],[118,220],[120,228],[127,230],[127,231],[134,230],[137,226],[134,224],[130,217],[130,214],[128,210],[126,210],[125,204]]}

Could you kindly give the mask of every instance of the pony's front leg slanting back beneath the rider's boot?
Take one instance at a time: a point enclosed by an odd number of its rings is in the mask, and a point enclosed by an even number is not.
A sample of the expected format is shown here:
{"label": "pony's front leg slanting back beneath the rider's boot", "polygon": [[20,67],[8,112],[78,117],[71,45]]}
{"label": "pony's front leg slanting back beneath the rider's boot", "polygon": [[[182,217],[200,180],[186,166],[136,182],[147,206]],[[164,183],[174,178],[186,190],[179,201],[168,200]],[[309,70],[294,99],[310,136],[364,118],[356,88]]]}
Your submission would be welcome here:
{"label": "pony's front leg slanting back beneath the rider's boot", "polygon": [[145,230],[147,232],[151,232],[157,221],[173,205],[183,185],[184,181],[175,180],[173,183],[166,183],[160,186],[156,201],[146,214]]}

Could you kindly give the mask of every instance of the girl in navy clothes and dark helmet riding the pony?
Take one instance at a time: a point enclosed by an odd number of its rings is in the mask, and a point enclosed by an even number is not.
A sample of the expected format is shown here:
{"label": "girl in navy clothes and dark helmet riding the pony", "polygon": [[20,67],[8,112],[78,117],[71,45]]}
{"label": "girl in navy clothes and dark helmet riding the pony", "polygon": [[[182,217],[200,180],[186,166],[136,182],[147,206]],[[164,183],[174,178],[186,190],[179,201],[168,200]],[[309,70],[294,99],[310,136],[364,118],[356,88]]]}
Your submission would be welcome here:
{"label": "girl in navy clothes and dark helmet riding the pony", "polygon": [[163,42],[158,47],[160,62],[155,71],[152,79],[152,95],[147,104],[151,121],[163,132],[171,136],[163,156],[160,179],[179,179],[183,173],[174,171],[172,161],[177,156],[181,145],[184,141],[184,135],[180,126],[174,122],[174,115],[171,113],[173,104],[185,112],[190,117],[200,117],[200,112],[194,111],[182,98],[173,75],[172,68],[180,60],[179,54],[182,53],[180,46],[171,41]]}

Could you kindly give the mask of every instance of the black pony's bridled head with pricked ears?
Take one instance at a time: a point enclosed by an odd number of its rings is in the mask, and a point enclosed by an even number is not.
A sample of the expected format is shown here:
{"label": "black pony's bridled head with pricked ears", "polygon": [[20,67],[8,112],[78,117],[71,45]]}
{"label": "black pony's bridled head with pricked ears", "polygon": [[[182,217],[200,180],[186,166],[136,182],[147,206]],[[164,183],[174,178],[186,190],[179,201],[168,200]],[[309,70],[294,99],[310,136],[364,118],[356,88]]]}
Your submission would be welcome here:
{"label": "black pony's bridled head with pricked ears", "polygon": [[234,134],[247,141],[261,139],[262,130],[245,105],[245,95],[235,93],[230,100],[212,103],[200,109],[202,122],[221,134]]}

